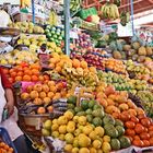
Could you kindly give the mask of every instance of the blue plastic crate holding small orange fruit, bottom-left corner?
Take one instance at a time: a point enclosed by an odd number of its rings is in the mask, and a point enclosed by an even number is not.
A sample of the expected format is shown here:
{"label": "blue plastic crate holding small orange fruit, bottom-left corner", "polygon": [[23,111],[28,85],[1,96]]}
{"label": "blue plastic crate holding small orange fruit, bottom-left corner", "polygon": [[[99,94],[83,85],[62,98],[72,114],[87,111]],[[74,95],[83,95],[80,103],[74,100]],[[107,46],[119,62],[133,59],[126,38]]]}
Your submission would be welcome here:
{"label": "blue plastic crate holding small orange fruit, bottom-left corner", "polygon": [[14,150],[14,153],[17,153],[13,142],[11,141],[11,138],[10,138],[8,131],[2,127],[0,127],[0,138],[2,139],[2,141],[4,143],[7,143],[10,148],[12,148]]}

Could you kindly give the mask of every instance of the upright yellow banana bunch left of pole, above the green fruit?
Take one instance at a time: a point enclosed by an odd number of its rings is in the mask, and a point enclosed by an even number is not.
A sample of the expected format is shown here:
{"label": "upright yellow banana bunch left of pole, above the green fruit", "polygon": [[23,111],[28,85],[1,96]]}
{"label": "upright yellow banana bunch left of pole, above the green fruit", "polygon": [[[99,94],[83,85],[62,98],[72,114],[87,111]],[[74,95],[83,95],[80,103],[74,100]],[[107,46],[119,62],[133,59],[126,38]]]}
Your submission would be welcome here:
{"label": "upright yellow banana bunch left of pole, above the green fruit", "polygon": [[50,11],[47,23],[50,25],[58,25],[58,14],[56,13],[56,11],[54,9],[51,9],[51,11]]}

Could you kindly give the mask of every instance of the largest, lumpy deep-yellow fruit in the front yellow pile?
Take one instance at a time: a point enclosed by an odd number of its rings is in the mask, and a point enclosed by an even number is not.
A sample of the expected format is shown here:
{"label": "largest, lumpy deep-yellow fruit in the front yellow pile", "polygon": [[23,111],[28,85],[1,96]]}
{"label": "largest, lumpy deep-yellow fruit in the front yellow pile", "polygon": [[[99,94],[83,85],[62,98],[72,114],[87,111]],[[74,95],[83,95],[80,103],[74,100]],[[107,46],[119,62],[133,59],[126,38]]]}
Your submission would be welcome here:
{"label": "largest, lumpy deep-yellow fruit in the front yellow pile", "polygon": [[81,148],[87,148],[89,145],[91,145],[91,139],[85,134],[81,133],[79,134],[78,138],[79,138],[79,145]]}

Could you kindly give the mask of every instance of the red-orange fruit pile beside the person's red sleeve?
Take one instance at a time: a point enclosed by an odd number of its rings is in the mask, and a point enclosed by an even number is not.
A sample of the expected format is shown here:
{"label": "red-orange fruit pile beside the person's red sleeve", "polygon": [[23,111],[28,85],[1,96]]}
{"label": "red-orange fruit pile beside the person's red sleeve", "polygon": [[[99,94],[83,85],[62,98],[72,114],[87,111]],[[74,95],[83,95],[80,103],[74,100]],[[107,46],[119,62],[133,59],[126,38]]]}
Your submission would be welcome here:
{"label": "red-orange fruit pile beside the person's red sleeve", "polygon": [[38,63],[21,63],[12,69],[3,69],[11,83],[17,81],[38,82],[48,81],[48,75],[40,75],[40,66]]}

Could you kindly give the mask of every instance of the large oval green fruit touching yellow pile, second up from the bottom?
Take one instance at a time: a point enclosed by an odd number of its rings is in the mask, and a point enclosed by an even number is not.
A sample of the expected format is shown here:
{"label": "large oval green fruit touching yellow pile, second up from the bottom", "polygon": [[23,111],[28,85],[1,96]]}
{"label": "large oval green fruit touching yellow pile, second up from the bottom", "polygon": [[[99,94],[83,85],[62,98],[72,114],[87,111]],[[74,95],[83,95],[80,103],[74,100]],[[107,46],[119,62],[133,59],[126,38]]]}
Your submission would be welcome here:
{"label": "large oval green fruit touching yellow pile, second up from the bottom", "polygon": [[105,125],[104,126],[105,132],[107,136],[111,138],[117,138],[118,137],[118,131],[113,125]]}

